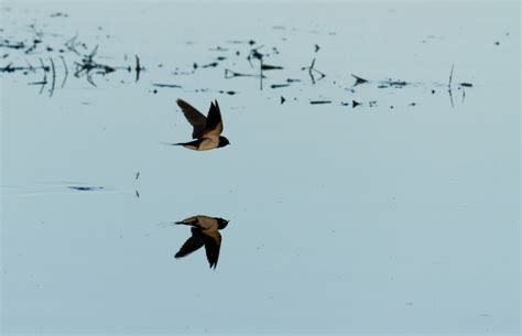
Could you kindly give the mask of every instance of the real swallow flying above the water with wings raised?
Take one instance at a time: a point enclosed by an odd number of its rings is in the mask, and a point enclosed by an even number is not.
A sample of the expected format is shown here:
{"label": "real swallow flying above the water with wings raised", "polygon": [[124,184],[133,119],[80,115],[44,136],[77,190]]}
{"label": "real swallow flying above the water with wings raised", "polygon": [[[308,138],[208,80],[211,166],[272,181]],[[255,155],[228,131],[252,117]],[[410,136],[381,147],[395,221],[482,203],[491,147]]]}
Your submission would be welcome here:
{"label": "real swallow flying above the water with wings raised", "polygon": [[230,144],[227,138],[221,137],[222,120],[217,100],[210,102],[210,109],[206,118],[185,100],[177,99],[176,102],[185,115],[185,118],[194,127],[192,139],[196,140],[171,144],[183,145],[194,151],[208,151]]}

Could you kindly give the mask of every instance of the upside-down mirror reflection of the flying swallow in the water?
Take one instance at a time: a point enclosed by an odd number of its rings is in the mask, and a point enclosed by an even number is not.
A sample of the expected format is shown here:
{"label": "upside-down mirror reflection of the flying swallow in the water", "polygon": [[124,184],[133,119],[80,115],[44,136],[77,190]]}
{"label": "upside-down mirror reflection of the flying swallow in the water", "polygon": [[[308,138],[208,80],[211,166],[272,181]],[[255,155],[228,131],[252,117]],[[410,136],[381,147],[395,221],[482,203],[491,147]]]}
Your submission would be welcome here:
{"label": "upside-down mirror reflection of the flying swallow in the water", "polygon": [[226,228],[228,220],[219,217],[198,215],[176,221],[176,224],[192,226],[192,236],[183,243],[174,257],[185,257],[205,246],[208,264],[210,268],[216,269],[219,258],[219,248],[221,247],[221,235],[218,230]]}

